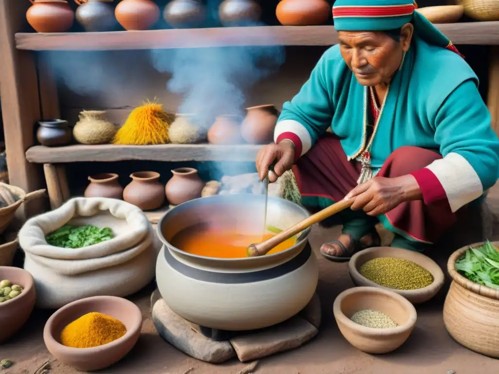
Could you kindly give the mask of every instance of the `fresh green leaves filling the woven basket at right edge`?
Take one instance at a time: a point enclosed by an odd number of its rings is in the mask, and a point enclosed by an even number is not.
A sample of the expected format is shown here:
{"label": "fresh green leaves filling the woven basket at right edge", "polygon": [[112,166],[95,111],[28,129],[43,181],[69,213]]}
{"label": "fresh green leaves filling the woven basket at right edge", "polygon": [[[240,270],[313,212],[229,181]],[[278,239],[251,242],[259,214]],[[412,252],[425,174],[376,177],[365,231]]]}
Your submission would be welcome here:
{"label": "fresh green leaves filling the woven basket at right edge", "polygon": [[475,283],[499,289],[499,248],[490,241],[470,247],[456,261],[456,270]]}

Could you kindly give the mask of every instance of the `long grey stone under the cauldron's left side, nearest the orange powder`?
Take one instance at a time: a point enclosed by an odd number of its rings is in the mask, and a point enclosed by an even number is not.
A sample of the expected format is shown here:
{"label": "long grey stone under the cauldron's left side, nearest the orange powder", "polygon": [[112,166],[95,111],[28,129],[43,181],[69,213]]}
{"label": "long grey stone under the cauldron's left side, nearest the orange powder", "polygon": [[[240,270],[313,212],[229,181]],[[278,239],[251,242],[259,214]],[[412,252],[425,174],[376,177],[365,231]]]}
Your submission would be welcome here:
{"label": "long grey stone under the cauldron's left side, nearest the orange powder", "polygon": [[172,311],[163,299],[156,301],[151,315],[159,335],[195,359],[218,364],[236,356],[229,342],[216,342],[204,337],[194,330],[189,322]]}

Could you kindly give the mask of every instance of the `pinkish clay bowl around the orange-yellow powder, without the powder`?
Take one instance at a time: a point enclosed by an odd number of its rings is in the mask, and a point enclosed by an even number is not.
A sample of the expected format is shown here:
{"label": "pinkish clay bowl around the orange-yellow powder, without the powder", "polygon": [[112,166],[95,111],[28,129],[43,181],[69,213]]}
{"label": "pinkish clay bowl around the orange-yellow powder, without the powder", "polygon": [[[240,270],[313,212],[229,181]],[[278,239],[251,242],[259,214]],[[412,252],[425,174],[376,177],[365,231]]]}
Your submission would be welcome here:
{"label": "pinkish clay bowl around the orange-yellow powder, without the powder", "polygon": [[[62,329],[90,313],[114,317],[126,327],[126,334],[114,342],[94,348],[70,348],[60,343]],[[142,326],[140,309],[131,301],[115,296],[93,296],[69,303],[57,310],[45,324],[43,340],[48,351],[60,362],[82,372],[107,368],[130,352],[139,339]]]}

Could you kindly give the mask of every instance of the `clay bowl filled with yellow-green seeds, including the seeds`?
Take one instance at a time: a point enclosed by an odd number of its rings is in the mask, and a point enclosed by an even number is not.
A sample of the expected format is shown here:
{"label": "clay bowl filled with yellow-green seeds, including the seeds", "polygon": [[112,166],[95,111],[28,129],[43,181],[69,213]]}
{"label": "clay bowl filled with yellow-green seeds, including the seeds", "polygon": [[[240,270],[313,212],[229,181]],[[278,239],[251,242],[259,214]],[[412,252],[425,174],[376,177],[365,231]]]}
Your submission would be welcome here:
{"label": "clay bowl filled with yellow-green seeds, including the seeds", "polygon": [[422,253],[372,247],[355,253],[348,263],[356,286],[378,287],[402,295],[413,304],[434,297],[444,285],[444,272]]}

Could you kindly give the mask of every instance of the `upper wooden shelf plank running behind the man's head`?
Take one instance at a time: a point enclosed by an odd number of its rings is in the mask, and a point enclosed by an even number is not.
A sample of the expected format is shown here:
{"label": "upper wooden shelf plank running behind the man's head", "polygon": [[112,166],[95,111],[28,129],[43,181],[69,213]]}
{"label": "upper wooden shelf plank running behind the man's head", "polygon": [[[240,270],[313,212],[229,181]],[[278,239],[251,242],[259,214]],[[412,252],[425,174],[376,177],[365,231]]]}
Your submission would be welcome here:
{"label": "upper wooden shelf plank running behind the man's head", "polygon": [[[499,21],[439,24],[454,44],[499,45]],[[148,31],[15,34],[17,49],[119,50],[245,45],[322,45],[338,42],[334,26],[256,26]]]}

